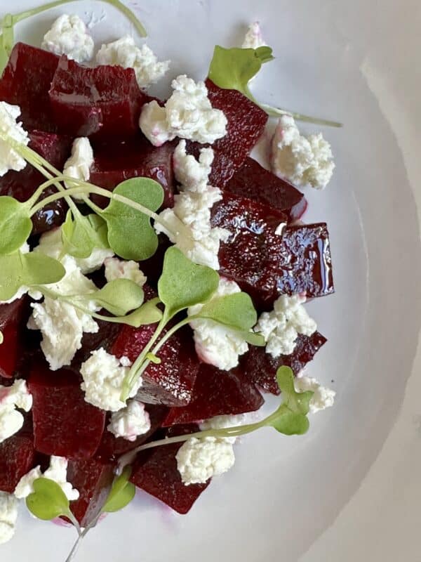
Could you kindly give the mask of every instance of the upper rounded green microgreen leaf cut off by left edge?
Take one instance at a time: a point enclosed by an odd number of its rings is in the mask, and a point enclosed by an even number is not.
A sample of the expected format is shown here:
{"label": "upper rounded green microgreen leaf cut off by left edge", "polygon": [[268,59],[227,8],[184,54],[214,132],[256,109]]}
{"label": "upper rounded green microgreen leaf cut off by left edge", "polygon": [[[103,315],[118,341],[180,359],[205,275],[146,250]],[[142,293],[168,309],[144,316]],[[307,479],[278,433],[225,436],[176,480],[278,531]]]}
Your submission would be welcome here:
{"label": "upper rounded green microgreen leaf cut off by left edge", "polygon": [[13,197],[0,197],[0,254],[18,250],[29,238],[31,230],[27,205]]}

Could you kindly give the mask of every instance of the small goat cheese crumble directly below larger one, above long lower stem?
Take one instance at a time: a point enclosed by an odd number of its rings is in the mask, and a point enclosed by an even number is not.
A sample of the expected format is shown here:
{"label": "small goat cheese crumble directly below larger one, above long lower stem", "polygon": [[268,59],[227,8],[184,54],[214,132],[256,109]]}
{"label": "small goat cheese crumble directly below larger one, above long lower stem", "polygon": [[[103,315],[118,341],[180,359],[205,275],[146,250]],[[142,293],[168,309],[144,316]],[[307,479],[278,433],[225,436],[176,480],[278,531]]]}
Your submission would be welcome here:
{"label": "small goat cheese crumble directly below larger one, above long lower stem", "polygon": [[112,414],[107,429],[116,437],[135,441],[138,436],[144,435],[151,429],[151,421],[145,410],[145,404],[137,400],[128,400],[127,406],[123,410]]}

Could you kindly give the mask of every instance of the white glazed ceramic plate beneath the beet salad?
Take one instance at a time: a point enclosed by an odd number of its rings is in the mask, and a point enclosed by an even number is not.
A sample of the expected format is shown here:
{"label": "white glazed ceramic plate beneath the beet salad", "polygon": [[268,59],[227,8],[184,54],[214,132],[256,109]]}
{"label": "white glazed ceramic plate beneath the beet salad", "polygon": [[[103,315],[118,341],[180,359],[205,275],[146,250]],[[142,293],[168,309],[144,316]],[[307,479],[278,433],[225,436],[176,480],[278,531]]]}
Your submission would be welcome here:
{"label": "white glazed ceramic plate beneath the beet salad", "polygon": [[[13,9],[34,4],[17,0]],[[245,438],[235,468],[215,478],[188,516],[138,495],[88,535],[78,560],[419,560],[412,498],[420,492],[420,420],[413,419],[420,382],[411,380],[403,398],[421,317],[412,189],[420,178],[420,6],[411,0],[399,7],[395,0],[131,5],[152,48],[174,61],[171,77],[205,77],[214,44],[239,44],[245,25],[259,19],[277,58],[253,84],[258,98],[345,123],[324,131],[337,163],[333,182],[324,192],[306,190],[306,220],[328,222],[337,291],[310,304],[329,341],[309,372],[331,384],[338,400],[312,419],[307,436],[282,438],[268,429]],[[86,1],[21,24],[18,38],[39,43],[65,11],[86,20],[105,13],[93,30],[98,41],[130,30],[112,8]],[[419,189],[417,197],[420,203]],[[1,560],[64,560],[74,532],[23,511]]]}

